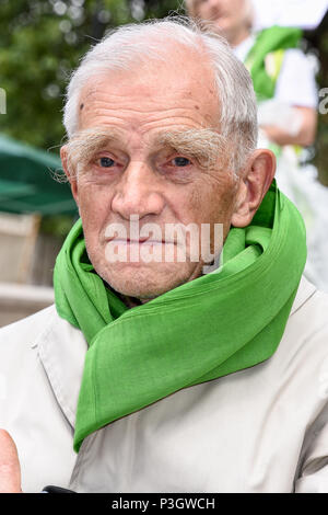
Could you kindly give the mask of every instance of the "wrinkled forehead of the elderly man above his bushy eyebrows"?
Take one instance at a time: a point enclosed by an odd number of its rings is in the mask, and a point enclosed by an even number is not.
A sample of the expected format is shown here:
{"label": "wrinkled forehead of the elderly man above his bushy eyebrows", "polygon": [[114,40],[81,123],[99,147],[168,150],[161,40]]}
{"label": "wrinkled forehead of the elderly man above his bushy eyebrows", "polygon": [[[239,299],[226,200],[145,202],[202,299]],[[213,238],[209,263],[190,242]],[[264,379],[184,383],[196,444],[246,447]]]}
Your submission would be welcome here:
{"label": "wrinkled forehead of the elderly man above his bushy eyebrows", "polygon": [[[189,50],[189,49],[188,49]],[[219,125],[220,100],[214,72],[208,58],[191,50],[172,52],[165,60],[134,64],[125,70],[98,71],[83,87],[79,96],[79,126],[86,116],[118,110],[151,113],[188,111],[200,125]]]}

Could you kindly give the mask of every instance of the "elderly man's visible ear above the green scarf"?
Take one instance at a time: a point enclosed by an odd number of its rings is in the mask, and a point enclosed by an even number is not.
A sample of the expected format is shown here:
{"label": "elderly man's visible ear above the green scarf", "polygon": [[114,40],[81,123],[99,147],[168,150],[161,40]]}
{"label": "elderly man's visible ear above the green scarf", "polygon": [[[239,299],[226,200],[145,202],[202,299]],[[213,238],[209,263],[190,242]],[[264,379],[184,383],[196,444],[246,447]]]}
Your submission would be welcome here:
{"label": "elderly man's visible ear above the green scarf", "polygon": [[246,227],[251,222],[273,181],[274,172],[274,153],[268,149],[255,150],[242,172],[232,216],[234,227]]}

